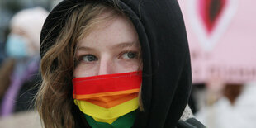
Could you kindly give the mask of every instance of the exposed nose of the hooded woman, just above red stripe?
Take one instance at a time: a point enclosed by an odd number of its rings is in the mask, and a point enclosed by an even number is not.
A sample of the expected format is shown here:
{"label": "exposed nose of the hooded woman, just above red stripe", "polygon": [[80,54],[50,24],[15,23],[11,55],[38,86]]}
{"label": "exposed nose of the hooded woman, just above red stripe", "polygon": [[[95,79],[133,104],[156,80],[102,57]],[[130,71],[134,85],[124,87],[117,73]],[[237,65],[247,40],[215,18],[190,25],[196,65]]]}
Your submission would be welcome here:
{"label": "exposed nose of the hooded woman, just above red stripe", "polygon": [[100,59],[100,64],[98,66],[99,67],[97,75],[116,73],[116,70],[114,68],[114,62],[111,59]]}

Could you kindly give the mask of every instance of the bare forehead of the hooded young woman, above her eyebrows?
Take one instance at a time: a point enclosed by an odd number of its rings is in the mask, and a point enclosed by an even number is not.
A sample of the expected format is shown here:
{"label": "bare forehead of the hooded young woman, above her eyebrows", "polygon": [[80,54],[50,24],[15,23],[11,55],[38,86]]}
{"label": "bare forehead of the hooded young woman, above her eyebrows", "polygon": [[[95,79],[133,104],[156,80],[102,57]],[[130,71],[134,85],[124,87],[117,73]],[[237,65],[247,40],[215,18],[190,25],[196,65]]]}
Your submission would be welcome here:
{"label": "bare forehead of the hooded young woman, above her eyebrows", "polygon": [[108,13],[103,13],[102,21],[97,22],[95,27],[78,41],[79,46],[104,46],[120,43],[135,43],[139,45],[138,34],[129,18],[117,15],[111,18]]}

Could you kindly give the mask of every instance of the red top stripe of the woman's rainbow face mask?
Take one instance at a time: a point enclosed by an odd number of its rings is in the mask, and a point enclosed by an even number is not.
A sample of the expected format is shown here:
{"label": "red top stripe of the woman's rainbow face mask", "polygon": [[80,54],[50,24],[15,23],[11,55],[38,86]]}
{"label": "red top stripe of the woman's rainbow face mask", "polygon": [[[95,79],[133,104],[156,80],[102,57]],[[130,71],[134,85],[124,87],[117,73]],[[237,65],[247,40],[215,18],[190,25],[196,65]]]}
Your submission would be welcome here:
{"label": "red top stripe of the woman's rainbow face mask", "polygon": [[[115,73],[86,78],[73,78],[73,95],[119,92],[140,88],[142,73]],[[75,97],[74,97],[75,98]]]}

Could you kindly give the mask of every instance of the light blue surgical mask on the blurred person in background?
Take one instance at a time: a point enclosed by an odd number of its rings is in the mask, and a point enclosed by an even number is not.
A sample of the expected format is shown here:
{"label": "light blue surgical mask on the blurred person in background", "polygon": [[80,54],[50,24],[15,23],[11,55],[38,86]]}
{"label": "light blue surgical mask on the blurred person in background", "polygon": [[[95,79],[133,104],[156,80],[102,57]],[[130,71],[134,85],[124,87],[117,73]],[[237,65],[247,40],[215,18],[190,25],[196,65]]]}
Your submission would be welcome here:
{"label": "light blue surgical mask on the blurred person in background", "polygon": [[27,40],[23,36],[11,34],[7,37],[6,52],[7,55],[14,58],[23,58],[28,55]]}

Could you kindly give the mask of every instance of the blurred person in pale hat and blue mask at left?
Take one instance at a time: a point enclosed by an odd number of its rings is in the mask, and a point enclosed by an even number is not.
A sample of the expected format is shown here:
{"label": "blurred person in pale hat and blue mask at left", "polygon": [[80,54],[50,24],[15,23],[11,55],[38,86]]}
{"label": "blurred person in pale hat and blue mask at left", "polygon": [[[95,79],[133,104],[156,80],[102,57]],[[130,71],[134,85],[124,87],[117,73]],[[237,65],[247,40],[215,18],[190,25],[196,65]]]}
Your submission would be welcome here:
{"label": "blurred person in pale hat and blue mask at left", "polygon": [[0,114],[9,116],[30,109],[38,76],[40,30],[48,12],[42,7],[21,10],[12,17],[0,67]]}

